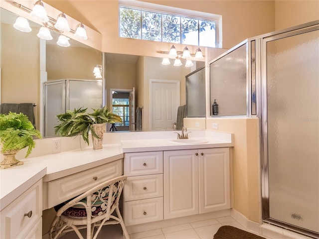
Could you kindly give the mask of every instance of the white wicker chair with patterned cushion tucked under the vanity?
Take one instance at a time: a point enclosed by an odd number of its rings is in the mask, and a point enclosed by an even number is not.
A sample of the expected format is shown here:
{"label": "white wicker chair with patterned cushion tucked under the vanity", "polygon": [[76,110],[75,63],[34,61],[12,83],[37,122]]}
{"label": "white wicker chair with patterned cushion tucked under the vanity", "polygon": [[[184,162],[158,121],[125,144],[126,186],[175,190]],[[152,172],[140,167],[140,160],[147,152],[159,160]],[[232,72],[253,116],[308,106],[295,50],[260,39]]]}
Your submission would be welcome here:
{"label": "white wicker chair with patterned cushion tucked under the vanity", "polygon": [[[119,199],[127,176],[120,176],[88,190],[87,192],[57,206],[56,216],[49,230],[49,238],[57,239],[86,228],[86,238],[96,239],[102,226],[120,224],[123,235],[130,239],[119,210]],[[58,209],[59,208],[59,209]],[[112,213],[116,212],[117,217]]]}

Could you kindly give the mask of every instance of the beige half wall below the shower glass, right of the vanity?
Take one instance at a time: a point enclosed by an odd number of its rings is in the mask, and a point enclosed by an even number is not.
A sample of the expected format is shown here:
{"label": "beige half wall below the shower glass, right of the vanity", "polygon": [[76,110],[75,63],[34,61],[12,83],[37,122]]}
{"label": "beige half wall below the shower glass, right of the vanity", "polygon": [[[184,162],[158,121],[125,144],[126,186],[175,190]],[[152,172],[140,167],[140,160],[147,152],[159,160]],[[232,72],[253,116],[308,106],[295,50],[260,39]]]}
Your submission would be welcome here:
{"label": "beige half wall below the shower glass, right of the vanity", "polygon": [[[218,123],[218,129],[212,123]],[[248,220],[260,221],[259,119],[208,118],[206,128],[234,134],[232,148],[233,208]]]}

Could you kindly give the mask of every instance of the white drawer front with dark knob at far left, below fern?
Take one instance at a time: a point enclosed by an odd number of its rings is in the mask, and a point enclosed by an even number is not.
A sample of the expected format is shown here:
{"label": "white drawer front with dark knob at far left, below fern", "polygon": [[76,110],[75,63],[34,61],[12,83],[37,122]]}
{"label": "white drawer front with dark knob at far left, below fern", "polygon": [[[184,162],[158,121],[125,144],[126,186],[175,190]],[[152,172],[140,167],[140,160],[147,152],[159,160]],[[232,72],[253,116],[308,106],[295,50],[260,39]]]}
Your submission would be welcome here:
{"label": "white drawer front with dark knob at far left, below fern", "polygon": [[42,179],[1,211],[0,238],[25,238],[41,217]]}

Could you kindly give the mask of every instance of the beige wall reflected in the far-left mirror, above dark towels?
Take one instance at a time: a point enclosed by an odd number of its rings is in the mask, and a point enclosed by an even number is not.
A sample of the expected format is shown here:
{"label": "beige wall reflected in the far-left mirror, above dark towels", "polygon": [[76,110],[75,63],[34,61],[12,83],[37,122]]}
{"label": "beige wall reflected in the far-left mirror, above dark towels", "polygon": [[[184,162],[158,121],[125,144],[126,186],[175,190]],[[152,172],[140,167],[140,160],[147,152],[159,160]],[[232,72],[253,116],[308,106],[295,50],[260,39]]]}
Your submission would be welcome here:
{"label": "beige wall reflected in the far-left mirror, above dark towels", "polygon": [[[34,29],[21,32],[12,25],[1,24],[1,103],[39,106],[40,41],[35,35]],[[38,106],[33,108],[36,128],[39,128]]]}

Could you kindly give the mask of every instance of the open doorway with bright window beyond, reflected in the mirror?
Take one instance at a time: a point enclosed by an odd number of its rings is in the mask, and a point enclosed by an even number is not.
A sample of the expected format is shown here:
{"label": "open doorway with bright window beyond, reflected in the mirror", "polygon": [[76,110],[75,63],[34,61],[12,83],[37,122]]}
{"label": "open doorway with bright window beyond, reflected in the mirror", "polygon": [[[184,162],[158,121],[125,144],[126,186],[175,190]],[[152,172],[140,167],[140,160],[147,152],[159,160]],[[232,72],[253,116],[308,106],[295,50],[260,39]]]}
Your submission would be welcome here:
{"label": "open doorway with bright window beyond, reflected in the mirror", "polygon": [[110,125],[109,131],[135,130],[135,89],[111,89],[111,102],[110,110],[123,122]]}

